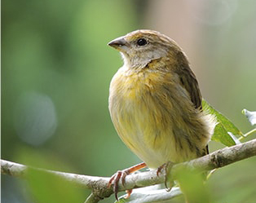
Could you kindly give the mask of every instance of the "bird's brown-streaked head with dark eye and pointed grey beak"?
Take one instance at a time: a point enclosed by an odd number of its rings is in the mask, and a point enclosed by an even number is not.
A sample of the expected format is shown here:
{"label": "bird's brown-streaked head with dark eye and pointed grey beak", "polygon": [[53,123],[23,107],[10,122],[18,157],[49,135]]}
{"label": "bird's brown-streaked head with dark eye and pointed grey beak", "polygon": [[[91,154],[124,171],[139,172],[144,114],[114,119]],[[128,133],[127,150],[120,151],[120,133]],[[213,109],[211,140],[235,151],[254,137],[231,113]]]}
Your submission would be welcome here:
{"label": "bird's brown-streaked head with dark eye and pointed grey beak", "polygon": [[157,31],[136,30],[108,43],[121,52],[125,65],[143,68],[152,60],[175,58],[181,49],[172,39]]}

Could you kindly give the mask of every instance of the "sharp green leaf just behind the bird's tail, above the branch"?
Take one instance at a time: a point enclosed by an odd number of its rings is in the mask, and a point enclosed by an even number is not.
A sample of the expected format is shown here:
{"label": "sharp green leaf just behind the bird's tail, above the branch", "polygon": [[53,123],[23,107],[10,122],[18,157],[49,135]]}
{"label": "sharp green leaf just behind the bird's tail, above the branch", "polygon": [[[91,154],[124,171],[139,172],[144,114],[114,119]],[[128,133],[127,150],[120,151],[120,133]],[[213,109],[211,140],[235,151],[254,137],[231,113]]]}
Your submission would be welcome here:
{"label": "sharp green leaf just behind the bird's tail, above the branch", "polygon": [[232,135],[242,136],[241,130],[239,130],[227,117],[225,117],[222,113],[219,113],[215,110],[210,104],[208,104],[205,99],[202,102],[203,110],[207,113],[210,113],[216,117],[218,122],[217,126],[215,126],[214,135],[212,136],[212,140],[223,143],[226,146],[235,145],[236,142],[229,135],[229,132]]}

